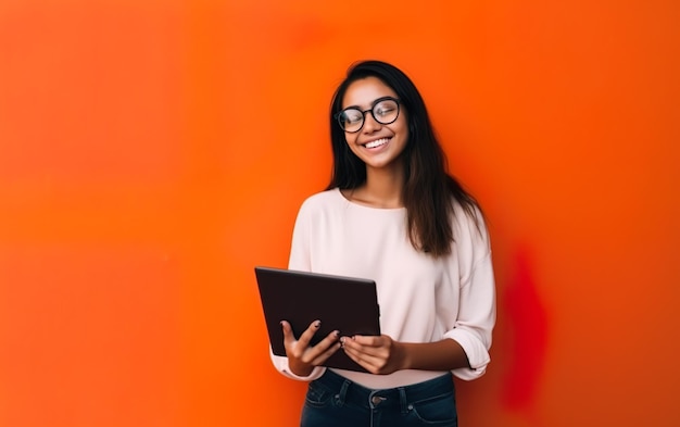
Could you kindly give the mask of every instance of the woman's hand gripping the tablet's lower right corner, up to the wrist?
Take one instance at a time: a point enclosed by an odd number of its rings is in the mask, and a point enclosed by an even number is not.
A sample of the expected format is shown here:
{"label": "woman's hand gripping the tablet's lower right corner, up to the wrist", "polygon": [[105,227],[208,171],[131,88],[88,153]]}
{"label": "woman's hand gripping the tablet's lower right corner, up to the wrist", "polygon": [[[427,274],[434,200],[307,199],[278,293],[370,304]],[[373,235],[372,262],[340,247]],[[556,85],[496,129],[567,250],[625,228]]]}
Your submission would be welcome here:
{"label": "woman's hand gripping the tablet's lower right corner, up to the wrist", "polygon": [[372,374],[387,375],[406,368],[405,349],[387,335],[342,337],[347,355]]}

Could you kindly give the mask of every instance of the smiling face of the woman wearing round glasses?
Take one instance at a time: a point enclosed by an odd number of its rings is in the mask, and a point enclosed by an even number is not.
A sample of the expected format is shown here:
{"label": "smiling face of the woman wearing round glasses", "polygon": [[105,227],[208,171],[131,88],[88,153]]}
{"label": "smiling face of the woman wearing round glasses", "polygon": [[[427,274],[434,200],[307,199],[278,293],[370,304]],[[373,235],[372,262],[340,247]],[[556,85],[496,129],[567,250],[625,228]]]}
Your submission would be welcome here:
{"label": "smiling face of the woman wearing round glasses", "polygon": [[385,97],[398,98],[396,93],[379,78],[366,77],[352,83],[342,99],[343,110],[357,108],[365,112],[361,130],[354,134],[345,131],[344,138],[350,150],[364,161],[367,167],[394,166],[408,141],[406,111],[402,105],[399,106],[396,120],[390,124],[380,124],[370,111],[366,112],[377,105],[374,110],[376,116],[381,122],[389,121],[389,111],[381,109],[383,104],[376,103],[376,100]]}

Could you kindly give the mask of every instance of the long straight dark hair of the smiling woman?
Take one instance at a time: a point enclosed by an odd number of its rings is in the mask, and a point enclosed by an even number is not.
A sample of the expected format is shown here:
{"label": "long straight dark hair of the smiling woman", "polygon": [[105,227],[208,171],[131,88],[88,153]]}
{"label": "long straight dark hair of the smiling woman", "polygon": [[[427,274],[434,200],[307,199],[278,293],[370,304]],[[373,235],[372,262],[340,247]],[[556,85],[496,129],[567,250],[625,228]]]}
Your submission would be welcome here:
{"label": "long straight dark hair of the smiling woman", "polygon": [[451,221],[454,203],[457,202],[477,225],[477,213],[481,211],[475,198],[448,173],[446,156],[435,136],[425,101],[408,76],[395,66],[381,61],[356,63],[336,90],[330,106],[333,166],[326,189],[352,189],[366,181],[365,163],[349,149],[344,131],[333,117],[342,110],[348,87],[366,77],[377,77],[392,88],[407,112],[410,139],[402,153],[405,173],[402,199],[411,243],[435,258],[446,255],[454,240]]}

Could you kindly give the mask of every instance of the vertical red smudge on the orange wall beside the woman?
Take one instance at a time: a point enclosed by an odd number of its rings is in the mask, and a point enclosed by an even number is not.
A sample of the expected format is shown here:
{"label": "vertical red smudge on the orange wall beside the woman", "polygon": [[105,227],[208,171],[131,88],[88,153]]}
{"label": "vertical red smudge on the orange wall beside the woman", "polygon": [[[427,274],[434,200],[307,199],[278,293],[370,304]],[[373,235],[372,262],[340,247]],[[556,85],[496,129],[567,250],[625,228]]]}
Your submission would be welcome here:
{"label": "vertical red smudge on the orange wall beside the woman", "polygon": [[527,248],[515,253],[502,297],[512,340],[501,397],[511,411],[531,412],[545,360],[547,314],[536,289]]}

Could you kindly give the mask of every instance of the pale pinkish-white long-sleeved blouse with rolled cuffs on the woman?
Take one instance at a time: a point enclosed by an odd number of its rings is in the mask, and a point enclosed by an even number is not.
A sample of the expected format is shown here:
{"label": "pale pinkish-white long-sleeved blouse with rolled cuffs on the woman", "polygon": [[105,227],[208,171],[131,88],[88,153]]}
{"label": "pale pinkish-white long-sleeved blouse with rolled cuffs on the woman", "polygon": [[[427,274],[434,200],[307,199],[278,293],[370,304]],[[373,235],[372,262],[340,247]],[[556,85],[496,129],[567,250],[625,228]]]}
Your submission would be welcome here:
{"label": "pale pinkish-white long-sleeved blouse with rolled cuffs on the woman", "polygon": [[[375,280],[382,334],[402,342],[454,339],[471,368],[454,369],[453,374],[475,379],[490,362],[495,323],[491,248],[479,212],[477,216],[479,227],[456,205],[452,253],[433,259],[411,244],[404,208],[369,208],[349,201],[339,189],[324,191],[300,208],[288,267]],[[287,357],[272,354],[272,360],[279,372],[301,380],[316,379],[326,369],[316,367],[308,377],[298,377],[288,368]],[[390,375],[333,371],[373,389],[442,375],[416,369]]]}

